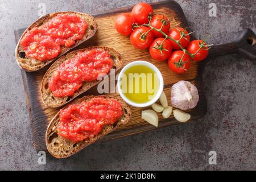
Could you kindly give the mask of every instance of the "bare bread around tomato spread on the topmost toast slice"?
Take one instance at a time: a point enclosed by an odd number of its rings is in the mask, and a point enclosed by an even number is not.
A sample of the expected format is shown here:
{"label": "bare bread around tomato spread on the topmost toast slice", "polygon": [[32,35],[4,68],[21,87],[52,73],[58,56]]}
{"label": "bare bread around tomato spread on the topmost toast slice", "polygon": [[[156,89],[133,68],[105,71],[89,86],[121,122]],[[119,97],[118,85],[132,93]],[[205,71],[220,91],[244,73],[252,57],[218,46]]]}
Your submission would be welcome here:
{"label": "bare bread around tomato spread on the topmost toast slice", "polygon": [[[82,37],[81,40],[77,40],[76,43],[72,47],[65,47],[65,46],[61,47],[61,52],[60,52],[59,56],[57,56],[54,59],[51,59],[48,61],[40,61],[40,60],[36,60],[36,59],[27,57],[25,51],[23,50],[22,46],[20,45],[20,40],[24,37],[24,35],[26,34],[27,31],[31,30],[34,27],[43,26],[43,24],[45,24],[50,19],[52,19],[53,17],[55,17],[56,15],[59,15],[59,14],[76,14],[78,16],[81,16],[81,18],[84,18],[86,23],[88,23],[88,28],[85,32],[85,35]],[[45,16],[42,16],[41,18],[36,20],[36,22],[31,24],[31,26],[29,26],[23,32],[22,36],[20,37],[19,42],[15,49],[16,61],[19,65],[19,67],[24,69],[25,71],[28,71],[28,72],[37,71],[37,70],[45,67],[52,61],[56,60],[58,57],[64,55],[66,52],[68,52],[72,48],[74,48],[74,47],[78,46],[79,44],[85,42],[86,40],[92,38],[92,36],[96,33],[97,28],[98,28],[97,23],[96,23],[96,20],[93,18],[93,16],[89,15],[89,14],[85,14],[85,13],[78,13],[78,12],[74,12],[74,11],[65,11],[65,12],[57,12],[57,13],[47,14]]]}

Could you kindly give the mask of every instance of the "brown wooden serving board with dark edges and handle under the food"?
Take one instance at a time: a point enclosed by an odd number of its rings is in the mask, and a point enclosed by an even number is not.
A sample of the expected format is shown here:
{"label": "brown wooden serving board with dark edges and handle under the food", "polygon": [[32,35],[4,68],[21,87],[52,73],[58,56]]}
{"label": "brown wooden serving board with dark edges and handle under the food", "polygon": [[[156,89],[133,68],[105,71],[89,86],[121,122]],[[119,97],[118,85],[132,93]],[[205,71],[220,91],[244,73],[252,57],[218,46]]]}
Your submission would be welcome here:
{"label": "brown wooden serving board with dark edges and handle under the food", "polygon": [[[185,19],[183,10],[179,6],[178,3],[174,1],[164,1],[164,2],[156,2],[151,4],[154,8],[155,13],[165,14],[171,20],[171,27],[181,26],[181,27],[188,27],[187,20]],[[167,94],[169,104],[170,103],[170,90],[172,84],[175,84],[177,81],[180,80],[187,80],[191,81],[193,84],[196,85],[197,89],[199,90],[199,103],[197,106],[192,109],[188,110],[188,113],[191,114],[192,118],[190,121],[195,121],[195,119],[203,117],[207,111],[207,101],[205,99],[204,94],[204,86],[201,79],[201,75],[204,69],[205,64],[207,61],[213,57],[218,55],[225,55],[228,53],[236,53],[240,52],[247,56],[249,59],[255,59],[256,55],[256,48],[255,48],[255,34],[250,29],[247,29],[240,34],[240,37],[236,42],[220,45],[220,46],[213,46],[210,49],[210,53],[208,56],[208,60],[202,61],[201,63],[192,63],[191,69],[187,73],[183,75],[176,75],[174,72],[171,72],[168,69],[167,63],[157,62],[154,61],[148,50],[138,50],[131,46],[129,36],[122,36],[119,35],[114,29],[114,18],[117,14],[123,12],[131,11],[132,7],[126,7],[122,9],[115,9],[109,10],[102,13],[94,13],[93,16],[96,18],[98,24],[98,31],[96,35],[87,42],[81,44],[79,48],[89,47],[89,46],[108,46],[113,47],[119,53],[122,54],[124,59],[124,65],[130,63],[134,60],[146,60],[150,61],[159,68],[162,72],[164,78],[164,91]],[[32,23],[32,22],[31,22]],[[18,42],[20,36],[22,35],[23,31],[26,28],[20,28],[15,31],[15,39]],[[189,30],[191,31],[191,30]],[[248,38],[250,37],[250,38]],[[192,39],[194,37],[192,36]],[[22,72],[22,79],[24,84],[24,90],[26,92],[26,100],[27,100],[27,108],[30,114],[30,121],[32,127],[32,135],[34,137],[34,146],[36,151],[46,149],[46,142],[45,142],[45,134],[46,128],[51,121],[52,117],[57,113],[59,109],[50,109],[43,105],[40,96],[40,85],[44,73],[47,71],[47,68],[44,68],[37,72]],[[88,92],[82,94],[94,94],[97,95],[97,86],[90,89]],[[112,94],[118,95],[118,94]],[[142,108],[146,109],[146,108]],[[127,135],[132,135],[136,133],[141,133],[143,131],[156,129],[155,126],[148,124],[147,122],[141,119],[141,110],[140,108],[132,107],[132,119],[127,125],[120,127],[118,130],[115,130],[113,133],[106,135],[104,138],[100,140],[110,140],[120,137],[125,137]],[[168,119],[163,119],[162,115],[159,114],[159,126],[169,126],[175,124],[181,124],[177,122],[173,115],[171,115]]]}

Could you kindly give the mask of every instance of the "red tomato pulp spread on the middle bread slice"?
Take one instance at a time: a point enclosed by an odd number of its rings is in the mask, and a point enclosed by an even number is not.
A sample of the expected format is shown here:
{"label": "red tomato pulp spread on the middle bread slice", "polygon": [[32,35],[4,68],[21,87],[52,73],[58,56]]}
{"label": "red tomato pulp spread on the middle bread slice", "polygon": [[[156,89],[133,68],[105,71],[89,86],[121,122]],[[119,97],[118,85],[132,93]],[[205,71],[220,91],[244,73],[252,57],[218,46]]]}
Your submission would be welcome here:
{"label": "red tomato pulp spread on the middle bread slice", "polygon": [[79,52],[64,61],[49,79],[49,90],[55,97],[73,96],[84,81],[97,80],[100,74],[107,74],[114,61],[104,49]]}

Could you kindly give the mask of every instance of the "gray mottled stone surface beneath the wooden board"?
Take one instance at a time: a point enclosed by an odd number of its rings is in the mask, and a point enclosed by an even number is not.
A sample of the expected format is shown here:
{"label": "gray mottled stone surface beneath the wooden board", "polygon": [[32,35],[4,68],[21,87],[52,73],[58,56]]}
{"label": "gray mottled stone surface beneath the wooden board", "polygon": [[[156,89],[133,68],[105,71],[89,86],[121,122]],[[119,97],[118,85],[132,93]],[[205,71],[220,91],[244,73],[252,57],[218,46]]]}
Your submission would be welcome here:
{"label": "gray mottled stone surface beneath the wooden board", "polygon": [[[256,169],[256,64],[240,55],[217,57],[204,73],[208,113],[199,122],[165,127],[97,143],[65,160],[47,157],[39,165],[20,71],[15,63],[13,31],[37,19],[38,4],[47,13],[91,13],[134,5],[138,1],[0,2],[0,169]],[[256,31],[256,3],[251,1],[179,0],[192,29],[211,43],[227,43],[245,27]],[[215,2],[217,17],[208,16]],[[217,165],[208,152],[217,152]]]}

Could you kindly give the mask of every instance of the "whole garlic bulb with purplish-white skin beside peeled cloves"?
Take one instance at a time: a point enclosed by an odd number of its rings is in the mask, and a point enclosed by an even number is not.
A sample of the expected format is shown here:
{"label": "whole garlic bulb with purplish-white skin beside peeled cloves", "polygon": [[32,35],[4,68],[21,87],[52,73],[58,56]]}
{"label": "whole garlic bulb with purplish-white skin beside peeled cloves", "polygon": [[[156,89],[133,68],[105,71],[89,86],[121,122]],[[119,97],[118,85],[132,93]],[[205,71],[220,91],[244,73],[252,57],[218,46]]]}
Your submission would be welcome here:
{"label": "whole garlic bulb with purplish-white skin beside peeled cloves", "polygon": [[192,109],[199,101],[198,90],[189,81],[179,81],[172,85],[171,102],[181,110]]}

